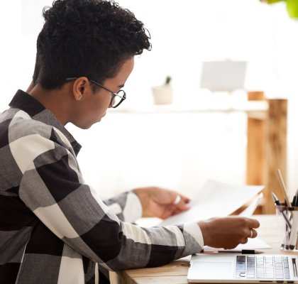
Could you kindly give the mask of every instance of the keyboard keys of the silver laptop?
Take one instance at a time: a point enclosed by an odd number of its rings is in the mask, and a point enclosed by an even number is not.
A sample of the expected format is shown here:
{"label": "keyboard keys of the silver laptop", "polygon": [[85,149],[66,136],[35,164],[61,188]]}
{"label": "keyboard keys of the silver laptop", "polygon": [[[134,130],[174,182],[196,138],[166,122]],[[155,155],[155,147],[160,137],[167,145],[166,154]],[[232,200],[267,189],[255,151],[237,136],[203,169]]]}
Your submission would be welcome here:
{"label": "keyboard keys of the silver laptop", "polygon": [[236,256],[236,278],[289,279],[287,256]]}

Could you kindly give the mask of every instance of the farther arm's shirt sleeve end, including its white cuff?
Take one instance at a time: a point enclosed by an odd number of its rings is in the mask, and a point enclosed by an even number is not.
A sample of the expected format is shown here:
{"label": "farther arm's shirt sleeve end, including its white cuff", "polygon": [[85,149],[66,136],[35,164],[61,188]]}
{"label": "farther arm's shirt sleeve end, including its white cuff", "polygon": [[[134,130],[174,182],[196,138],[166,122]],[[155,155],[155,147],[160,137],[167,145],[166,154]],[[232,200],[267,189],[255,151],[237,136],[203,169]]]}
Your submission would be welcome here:
{"label": "farther arm's shirt sleeve end, including its white cuff", "polygon": [[123,222],[134,223],[142,217],[142,204],[134,192],[124,192],[103,202]]}

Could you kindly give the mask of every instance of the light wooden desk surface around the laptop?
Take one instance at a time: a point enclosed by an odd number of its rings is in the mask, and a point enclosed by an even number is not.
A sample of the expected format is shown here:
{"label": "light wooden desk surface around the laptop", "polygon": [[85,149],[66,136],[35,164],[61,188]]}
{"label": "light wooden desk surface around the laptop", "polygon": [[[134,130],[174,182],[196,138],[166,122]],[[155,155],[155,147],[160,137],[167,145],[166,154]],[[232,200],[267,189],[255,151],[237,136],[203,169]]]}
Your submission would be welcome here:
{"label": "light wooden desk surface around the laptop", "polygon": [[[280,251],[277,219],[275,215],[254,215],[260,222],[258,236],[272,249],[264,249],[264,254],[297,254],[293,252]],[[187,272],[189,268],[190,256],[173,261],[166,266],[157,268],[140,268],[123,271],[121,273],[121,283],[128,284],[187,284]]]}

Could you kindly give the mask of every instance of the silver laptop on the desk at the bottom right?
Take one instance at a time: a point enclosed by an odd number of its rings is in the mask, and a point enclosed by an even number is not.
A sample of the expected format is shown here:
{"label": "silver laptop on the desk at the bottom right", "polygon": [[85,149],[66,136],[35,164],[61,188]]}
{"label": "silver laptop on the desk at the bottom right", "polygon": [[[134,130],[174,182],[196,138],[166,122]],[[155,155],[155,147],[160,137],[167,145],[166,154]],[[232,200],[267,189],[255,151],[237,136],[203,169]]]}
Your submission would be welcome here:
{"label": "silver laptop on the desk at the bottom right", "polygon": [[189,283],[298,283],[298,256],[194,254]]}

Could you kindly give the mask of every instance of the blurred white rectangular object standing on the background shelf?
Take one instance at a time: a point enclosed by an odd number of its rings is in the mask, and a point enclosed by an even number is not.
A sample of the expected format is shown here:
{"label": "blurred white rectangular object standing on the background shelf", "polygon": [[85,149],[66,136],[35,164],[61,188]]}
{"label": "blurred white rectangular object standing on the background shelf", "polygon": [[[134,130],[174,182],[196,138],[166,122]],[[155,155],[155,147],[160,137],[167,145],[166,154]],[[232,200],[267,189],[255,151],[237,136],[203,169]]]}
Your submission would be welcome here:
{"label": "blurred white rectangular object standing on the background shelf", "polygon": [[201,88],[211,91],[243,89],[246,62],[212,61],[203,62]]}

